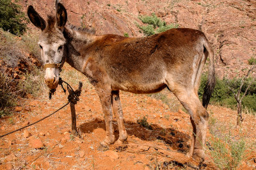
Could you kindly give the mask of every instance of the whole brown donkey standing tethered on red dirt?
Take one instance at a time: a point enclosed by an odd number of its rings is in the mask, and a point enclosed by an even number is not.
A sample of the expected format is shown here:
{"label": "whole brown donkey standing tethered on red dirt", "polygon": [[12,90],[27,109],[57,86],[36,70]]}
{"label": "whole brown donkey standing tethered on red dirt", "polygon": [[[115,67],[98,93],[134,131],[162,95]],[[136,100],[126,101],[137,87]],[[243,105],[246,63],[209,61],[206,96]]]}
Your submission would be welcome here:
{"label": "whole brown donkey standing tethered on red dirt", "polygon": [[[58,3],[56,17],[47,22],[28,7],[31,22],[42,30],[38,44],[45,65],[45,82],[58,86],[61,66],[67,63],[82,72],[97,90],[106,121],[106,139],[115,142],[113,113],[118,119],[118,143],[127,139],[119,90],[156,93],[170,89],[191,115],[193,137],[188,156],[204,161],[209,104],[214,88],[214,54],[204,33],[195,29],[170,29],[143,38],[119,35],[95,36],[92,32],[65,26],[67,11]],[[200,75],[209,56],[209,76],[201,104],[197,92]]]}

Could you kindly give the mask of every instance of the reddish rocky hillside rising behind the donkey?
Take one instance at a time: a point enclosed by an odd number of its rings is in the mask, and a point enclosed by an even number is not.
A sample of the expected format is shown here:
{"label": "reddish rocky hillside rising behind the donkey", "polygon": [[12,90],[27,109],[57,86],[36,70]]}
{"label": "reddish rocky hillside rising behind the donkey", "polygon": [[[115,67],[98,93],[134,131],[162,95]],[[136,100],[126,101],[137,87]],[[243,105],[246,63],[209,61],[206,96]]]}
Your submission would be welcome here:
{"label": "reddish rocky hillside rising behind the donkey", "polygon": [[[33,5],[44,17],[54,14],[54,0],[20,1],[24,11]],[[95,29],[97,35],[113,33],[143,36],[139,15],[156,13],[167,24],[202,30],[216,54],[218,77],[237,77],[256,58],[256,1],[254,0],[62,0],[68,24]],[[33,27],[35,29],[35,27]]]}

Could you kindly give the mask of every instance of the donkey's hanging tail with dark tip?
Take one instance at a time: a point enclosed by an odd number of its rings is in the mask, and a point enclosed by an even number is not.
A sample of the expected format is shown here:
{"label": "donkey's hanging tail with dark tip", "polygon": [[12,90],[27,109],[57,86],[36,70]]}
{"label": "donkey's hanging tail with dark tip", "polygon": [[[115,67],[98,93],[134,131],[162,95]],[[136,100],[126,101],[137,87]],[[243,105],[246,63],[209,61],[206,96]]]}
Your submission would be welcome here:
{"label": "donkey's hanging tail with dark tip", "polygon": [[204,95],[203,95],[203,102],[202,102],[205,109],[207,109],[216,81],[215,81],[215,70],[214,70],[214,52],[206,38],[203,45],[204,45],[204,54],[205,56],[208,55],[210,59],[209,71],[208,71],[209,74],[208,74],[207,83],[204,88]]}

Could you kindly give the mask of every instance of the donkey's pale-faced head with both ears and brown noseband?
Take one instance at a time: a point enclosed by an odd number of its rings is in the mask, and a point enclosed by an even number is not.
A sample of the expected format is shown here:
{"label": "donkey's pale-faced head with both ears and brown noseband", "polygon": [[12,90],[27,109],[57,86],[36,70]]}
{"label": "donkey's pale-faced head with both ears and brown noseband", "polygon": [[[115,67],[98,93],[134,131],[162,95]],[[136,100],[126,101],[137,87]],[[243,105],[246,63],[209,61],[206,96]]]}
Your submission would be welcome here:
{"label": "donkey's pale-faced head with both ears and brown noseband", "polygon": [[41,58],[45,68],[45,82],[51,89],[57,88],[61,67],[65,62],[65,37],[63,29],[67,22],[67,11],[63,4],[56,5],[56,17],[48,16],[47,23],[35,11],[28,7],[28,17],[31,22],[42,30],[38,45],[41,48]]}

